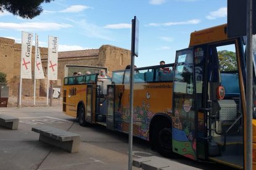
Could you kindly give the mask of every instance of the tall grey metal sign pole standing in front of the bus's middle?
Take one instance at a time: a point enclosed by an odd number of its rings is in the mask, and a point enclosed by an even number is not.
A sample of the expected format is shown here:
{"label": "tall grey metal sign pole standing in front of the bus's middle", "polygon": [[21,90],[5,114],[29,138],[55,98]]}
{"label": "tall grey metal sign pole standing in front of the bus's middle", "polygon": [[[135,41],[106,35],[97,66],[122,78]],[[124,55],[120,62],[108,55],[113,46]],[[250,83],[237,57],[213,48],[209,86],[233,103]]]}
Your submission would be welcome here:
{"label": "tall grey metal sign pole standing in front of the bus's middle", "polygon": [[[135,20],[132,20],[132,30],[135,30]],[[134,31],[132,31],[134,33]],[[128,169],[132,169],[132,137],[134,123],[134,34],[132,34],[132,51],[130,55],[130,119],[129,119],[129,165]]]}

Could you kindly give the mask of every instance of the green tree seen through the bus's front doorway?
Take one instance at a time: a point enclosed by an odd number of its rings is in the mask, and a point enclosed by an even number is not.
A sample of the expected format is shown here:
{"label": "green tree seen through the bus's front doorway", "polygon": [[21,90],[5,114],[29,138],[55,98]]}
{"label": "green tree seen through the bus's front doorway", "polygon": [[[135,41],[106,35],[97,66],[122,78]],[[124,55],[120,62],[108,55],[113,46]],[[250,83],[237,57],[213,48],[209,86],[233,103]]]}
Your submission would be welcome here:
{"label": "green tree seen through the bus's front doorway", "polygon": [[218,51],[221,71],[237,70],[236,52],[232,51]]}

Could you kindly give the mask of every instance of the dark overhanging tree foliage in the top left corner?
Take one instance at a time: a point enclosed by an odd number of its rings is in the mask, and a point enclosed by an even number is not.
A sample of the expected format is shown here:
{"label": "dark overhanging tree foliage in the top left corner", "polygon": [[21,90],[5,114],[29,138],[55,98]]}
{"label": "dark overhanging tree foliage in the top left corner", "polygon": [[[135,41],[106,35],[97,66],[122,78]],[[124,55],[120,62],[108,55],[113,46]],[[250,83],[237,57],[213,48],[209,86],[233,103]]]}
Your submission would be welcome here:
{"label": "dark overhanging tree foliage in the top left corner", "polygon": [[43,11],[40,4],[54,0],[0,0],[0,11],[7,10],[22,18],[33,18]]}

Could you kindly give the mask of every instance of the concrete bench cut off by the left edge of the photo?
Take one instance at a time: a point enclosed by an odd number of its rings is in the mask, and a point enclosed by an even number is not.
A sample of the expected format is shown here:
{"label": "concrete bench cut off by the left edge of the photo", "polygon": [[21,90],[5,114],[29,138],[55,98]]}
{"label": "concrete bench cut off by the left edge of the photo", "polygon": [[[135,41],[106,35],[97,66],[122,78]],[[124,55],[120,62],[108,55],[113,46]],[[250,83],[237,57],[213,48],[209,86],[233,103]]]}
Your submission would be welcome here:
{"label": "concrete bench cut off by the left edge of the photo", "polygon": [[0,114],[0,125],[7,129],[17,130],[19,126],[19,118]]}

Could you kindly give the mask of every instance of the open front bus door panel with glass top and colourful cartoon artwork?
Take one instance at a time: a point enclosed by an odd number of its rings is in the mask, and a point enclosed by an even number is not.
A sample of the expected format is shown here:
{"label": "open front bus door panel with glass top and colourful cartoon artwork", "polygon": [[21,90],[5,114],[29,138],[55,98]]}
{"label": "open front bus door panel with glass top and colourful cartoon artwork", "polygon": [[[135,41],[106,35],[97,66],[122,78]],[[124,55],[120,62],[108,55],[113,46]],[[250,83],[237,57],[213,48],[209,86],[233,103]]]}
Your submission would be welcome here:
{"label": "open front bus door panel with glass top and colourful cartoon artwork", "polygon": [[193,49],[176,52],[173,81],[173,152],[197,160],[197,105]]}

